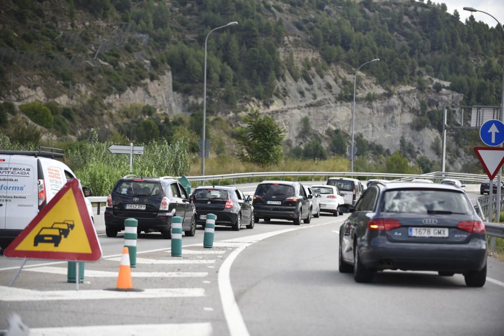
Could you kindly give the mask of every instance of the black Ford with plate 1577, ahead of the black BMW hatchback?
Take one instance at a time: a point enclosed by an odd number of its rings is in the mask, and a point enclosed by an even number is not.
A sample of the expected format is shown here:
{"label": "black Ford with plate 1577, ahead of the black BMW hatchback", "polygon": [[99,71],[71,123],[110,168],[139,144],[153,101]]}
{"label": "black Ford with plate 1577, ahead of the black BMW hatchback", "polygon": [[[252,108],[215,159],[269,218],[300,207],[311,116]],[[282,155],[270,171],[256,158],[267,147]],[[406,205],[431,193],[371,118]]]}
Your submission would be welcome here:
{"label": "black Ford with plate 1577, ahead of the black BMW hatchback", "polygon": [[263,181],[254,193],[254,221],[259,219],[269,222],[270,219],[287,219],[294,225],[311,221],[309,198],[299,182]]}

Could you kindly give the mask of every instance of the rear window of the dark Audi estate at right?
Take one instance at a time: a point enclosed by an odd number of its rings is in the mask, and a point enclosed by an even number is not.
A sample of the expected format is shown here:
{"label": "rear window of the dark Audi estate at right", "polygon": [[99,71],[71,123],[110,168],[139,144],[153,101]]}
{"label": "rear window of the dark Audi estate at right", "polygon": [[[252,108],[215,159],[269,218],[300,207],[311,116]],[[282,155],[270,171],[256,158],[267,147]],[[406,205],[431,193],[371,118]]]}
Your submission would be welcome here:
{"label": "rear window of the dark Audi estate at right", "polygon": [[382,204],[382,211],[388,213],[471,213],[463,193],[447,190],[389,190],[385,192]]}

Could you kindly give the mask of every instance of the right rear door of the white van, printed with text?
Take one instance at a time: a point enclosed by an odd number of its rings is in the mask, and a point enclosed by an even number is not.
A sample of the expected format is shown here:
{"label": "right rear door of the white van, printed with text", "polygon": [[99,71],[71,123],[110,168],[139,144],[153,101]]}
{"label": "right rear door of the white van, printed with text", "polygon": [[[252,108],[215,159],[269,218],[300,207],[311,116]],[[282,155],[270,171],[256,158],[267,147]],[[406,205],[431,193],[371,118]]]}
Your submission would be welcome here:
{"label": "right rear door of the white van, printed with text", "polygon": [[[37,161],[11,156],[8,168],[5,228],[23,230],[38,213]],[[5,187],[3,187],[5,188]]]}

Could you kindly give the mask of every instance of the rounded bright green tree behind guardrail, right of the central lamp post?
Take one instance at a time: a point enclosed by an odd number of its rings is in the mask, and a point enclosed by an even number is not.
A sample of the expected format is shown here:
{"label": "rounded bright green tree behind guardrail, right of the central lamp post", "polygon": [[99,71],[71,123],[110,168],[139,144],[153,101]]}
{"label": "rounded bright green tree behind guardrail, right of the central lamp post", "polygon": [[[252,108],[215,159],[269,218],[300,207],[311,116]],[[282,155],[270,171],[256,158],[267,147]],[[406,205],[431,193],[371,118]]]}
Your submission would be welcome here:
{"label": "rounded bright green tree behind guardrail, right of the central lamp post", "polygon": [[261,115],[259,109],[250,109],[242,118],[245,127],[236,130],[238,145],[250,161],[266,165],[278,165],[282,158],[282,141],[285,130],[269,115]]}

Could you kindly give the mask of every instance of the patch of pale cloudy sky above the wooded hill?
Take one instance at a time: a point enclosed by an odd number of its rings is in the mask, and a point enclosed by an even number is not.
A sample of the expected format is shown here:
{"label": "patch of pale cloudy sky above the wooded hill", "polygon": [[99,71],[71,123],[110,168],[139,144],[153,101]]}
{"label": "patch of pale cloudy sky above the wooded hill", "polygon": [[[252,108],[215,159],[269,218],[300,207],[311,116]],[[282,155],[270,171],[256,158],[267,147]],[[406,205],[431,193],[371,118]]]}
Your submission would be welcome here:
{"label": "patch of pale cloudy sky above the wooded hill", "polygon": [[[484,13],[471,13],[463,10],[464,7],[472,7],[493,15],[504,25],[504,0],[433,0],[432,2],[436,4],[445,3],[448,7],[447,12],[450,14],[453,14],[454,10],[459,11],[460,21],[462,22],[465,22],[466,18],[470,17],[472,14],[476,21],[483,21],[491,27],[495,27],[497,24],[494,19]],[[425,3],[427,3],[427,0],[425,0]]]}

